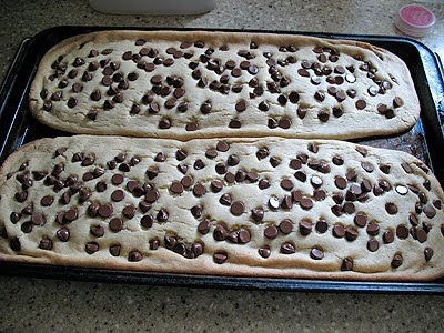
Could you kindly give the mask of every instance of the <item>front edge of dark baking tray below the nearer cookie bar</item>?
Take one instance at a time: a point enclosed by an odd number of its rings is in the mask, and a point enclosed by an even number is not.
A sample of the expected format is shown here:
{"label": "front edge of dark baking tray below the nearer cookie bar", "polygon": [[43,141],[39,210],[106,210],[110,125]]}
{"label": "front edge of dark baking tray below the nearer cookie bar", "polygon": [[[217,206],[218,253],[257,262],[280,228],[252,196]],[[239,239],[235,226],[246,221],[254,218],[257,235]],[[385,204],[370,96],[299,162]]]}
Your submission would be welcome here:
{"label": "front edge of dark baking tray below the nearer cookie bar", "polygon": [[303,292],[357,292],[377,294],[444,295],[444,283],[362,282],[278,278],[214,276],[175,273],[114,271],[0,262],[1,275],[56,280],[153,284],[181,287],[271,290]]}

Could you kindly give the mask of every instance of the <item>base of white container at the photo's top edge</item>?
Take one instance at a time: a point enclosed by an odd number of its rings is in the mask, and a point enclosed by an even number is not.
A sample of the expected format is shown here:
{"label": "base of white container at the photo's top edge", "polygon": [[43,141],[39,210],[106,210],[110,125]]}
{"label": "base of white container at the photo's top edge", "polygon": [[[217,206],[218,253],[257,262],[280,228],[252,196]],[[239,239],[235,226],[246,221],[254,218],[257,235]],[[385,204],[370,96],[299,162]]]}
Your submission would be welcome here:
{"label": "base of white container at the photo's top edge", "polygon": [[97,11],[112,14],[199,14],[212,10],[215,0],[89,0]]}

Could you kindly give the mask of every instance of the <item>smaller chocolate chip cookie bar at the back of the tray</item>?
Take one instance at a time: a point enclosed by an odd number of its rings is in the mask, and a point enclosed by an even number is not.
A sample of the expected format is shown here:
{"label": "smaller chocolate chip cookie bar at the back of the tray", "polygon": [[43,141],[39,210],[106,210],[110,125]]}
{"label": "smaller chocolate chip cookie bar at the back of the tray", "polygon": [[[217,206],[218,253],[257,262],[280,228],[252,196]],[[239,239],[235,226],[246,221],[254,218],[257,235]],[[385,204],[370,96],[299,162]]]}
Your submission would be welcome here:
{"label": "smaller chocolate chip cookie bar at the back of the tray", "polygon": [[349,139],[415,124],[405,63],[367,43],[303,36],[101,31],[41,60],[30,109],[73,133],[188,140]]}

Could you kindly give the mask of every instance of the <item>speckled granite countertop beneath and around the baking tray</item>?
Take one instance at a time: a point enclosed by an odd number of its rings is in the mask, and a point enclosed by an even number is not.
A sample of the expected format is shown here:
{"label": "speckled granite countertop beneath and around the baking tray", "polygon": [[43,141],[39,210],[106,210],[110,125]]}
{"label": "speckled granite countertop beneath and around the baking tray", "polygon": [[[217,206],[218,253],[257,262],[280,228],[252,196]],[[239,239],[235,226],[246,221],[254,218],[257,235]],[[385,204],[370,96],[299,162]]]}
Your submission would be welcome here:
{"label": "speckled granite countertop beneath and around the baking tray", "polygon": [[[44,4],[43,4],[44,3]],[[331,3],[330,6],[327,3]],[[61,24],[279,29],[401,34],[393,26],[408,1],[220,0],[191,17],[117,17],[85,0],[0,0],[0,80],[24,37]],[[444,4],[421,39],[444,58]],[[311,294],[102,284],[0,276],[0,332],[444,331],[442,297]]]}

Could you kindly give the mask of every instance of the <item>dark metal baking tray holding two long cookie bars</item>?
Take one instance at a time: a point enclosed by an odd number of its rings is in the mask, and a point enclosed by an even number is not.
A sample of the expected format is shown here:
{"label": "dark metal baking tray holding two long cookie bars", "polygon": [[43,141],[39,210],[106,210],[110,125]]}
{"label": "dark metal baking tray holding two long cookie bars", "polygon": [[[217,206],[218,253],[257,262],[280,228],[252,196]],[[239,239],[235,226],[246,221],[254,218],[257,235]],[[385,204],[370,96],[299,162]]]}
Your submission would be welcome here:
{"label": "dark metal baking tray holding two long cookie bars", "polygon": [[[168,30],[131,27],[56,27],[22,41],[0,90],[0,163],[22,144],[43,137],[70,135],[42,125],[34,120],[28,108],[28,92],[37,67],[43,54],[61,40],[79,33],[110,29]],[[201,29],[174,29],[201,30]],[[209,30],[209,29],[202,29]],[[214,30],[232,31],[240,30]],[[444,185],[444,78],[437,54],[424,44],[407,38],[310,33],[295,31],[242,32],[307,34],[333,39],[353,39],[370,42],[397,54],[411,70],[420,98],[421,118],[408,132],[384,137],[353,140],[373,147],[403,150],[423,160]],[[0,274],[24,275],[82,281],[120,283],[150,283],[179,286],[205,286],[285,291],[371,292],[371,293],[427,293],[444,294],[444,279],[428,283],[403,282],[346,282],[325,280],[300,280],[275,278],[238,278],[191,275],[174,273],[130,272],[70,266],[51,266],[0,262]]]}

